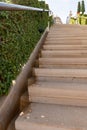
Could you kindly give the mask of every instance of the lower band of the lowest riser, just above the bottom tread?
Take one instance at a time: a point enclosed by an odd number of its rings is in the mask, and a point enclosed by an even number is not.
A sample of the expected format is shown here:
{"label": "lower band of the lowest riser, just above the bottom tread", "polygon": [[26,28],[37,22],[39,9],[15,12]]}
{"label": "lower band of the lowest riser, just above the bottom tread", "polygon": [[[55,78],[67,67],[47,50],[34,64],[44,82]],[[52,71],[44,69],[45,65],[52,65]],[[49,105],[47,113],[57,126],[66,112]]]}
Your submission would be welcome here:
{"label": "lower band of the lowest riser, just above the bottom tread", "polygon": [[34,103],[47,103],[47,104],[56,104],[56,105],[68,105],[68,106],[82,106],[87,107],[86,100],[76,100],[76,99],[65,99],[64,98],[48,98],[48,97],[32,97],[30,98],[31,102]]}

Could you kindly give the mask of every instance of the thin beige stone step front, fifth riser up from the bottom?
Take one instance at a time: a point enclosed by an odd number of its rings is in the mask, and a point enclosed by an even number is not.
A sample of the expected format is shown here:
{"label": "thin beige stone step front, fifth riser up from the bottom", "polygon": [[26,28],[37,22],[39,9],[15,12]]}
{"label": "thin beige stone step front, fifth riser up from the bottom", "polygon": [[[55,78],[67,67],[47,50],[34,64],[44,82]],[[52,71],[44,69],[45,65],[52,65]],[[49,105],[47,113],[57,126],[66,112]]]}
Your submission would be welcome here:
{"label": "thin beige stone step front, fifth riser up from the bottom", "polygon": [[87,45],[44,45],[44,50],[87,50]]}

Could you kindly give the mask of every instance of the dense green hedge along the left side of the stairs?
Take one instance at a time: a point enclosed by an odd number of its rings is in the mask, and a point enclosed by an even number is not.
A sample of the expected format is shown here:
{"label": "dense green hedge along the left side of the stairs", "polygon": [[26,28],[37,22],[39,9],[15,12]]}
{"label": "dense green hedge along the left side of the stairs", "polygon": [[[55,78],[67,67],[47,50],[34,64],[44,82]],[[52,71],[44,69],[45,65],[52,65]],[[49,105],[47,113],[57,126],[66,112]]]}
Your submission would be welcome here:
{"label": "dense green hedge along the left side of the stairs", "polygon": [[[49,8],[38,0],[5,1]],[[47,12],[0,11],[0,95],[8,93],[12,80],[28,60],[47,23]]]}

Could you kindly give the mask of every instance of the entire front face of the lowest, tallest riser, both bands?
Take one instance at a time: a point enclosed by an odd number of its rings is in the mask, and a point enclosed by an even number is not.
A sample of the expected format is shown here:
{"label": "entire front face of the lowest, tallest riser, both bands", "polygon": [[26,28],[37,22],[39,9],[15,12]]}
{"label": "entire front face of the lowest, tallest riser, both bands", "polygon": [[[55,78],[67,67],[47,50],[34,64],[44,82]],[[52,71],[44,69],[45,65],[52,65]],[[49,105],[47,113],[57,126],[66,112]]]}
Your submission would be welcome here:
{"label": "entire front face of the lowest, tallest riser, both bands", "polygon": [[61,105],[87,106],[86,90],[64,90],[53,88],[29,88],[30,102],[51,103]]}

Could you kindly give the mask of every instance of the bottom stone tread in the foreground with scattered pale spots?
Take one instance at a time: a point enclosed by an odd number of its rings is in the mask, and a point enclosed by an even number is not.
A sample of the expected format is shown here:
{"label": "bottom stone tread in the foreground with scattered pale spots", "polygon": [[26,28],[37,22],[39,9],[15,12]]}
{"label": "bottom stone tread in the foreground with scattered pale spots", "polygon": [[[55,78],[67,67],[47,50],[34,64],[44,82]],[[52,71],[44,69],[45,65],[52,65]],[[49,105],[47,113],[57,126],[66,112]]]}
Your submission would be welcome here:
{"label": "bottom stone tread in the foreground with scattered pale spots", "polygon": [[86,130],[87,108],[32,103],[15,122],[16,130]]}

